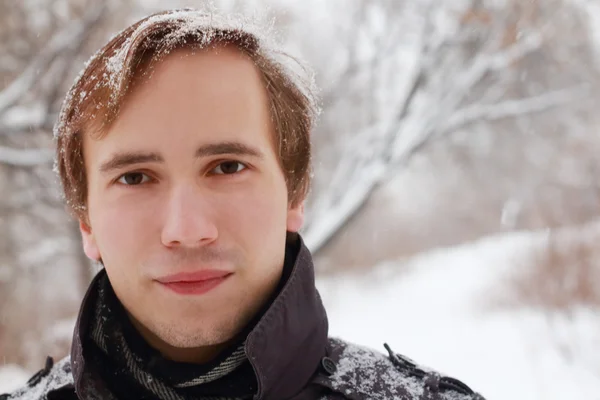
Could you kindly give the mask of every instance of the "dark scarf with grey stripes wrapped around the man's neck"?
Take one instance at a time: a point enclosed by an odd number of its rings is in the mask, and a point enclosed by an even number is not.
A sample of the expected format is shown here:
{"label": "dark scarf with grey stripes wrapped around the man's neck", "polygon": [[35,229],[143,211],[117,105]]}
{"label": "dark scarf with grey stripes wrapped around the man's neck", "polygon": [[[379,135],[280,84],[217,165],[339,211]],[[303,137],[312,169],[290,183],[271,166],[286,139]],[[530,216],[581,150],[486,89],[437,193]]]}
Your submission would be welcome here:
{"label": "dark scarf with grey stripes wrapped around the man's neck", "polygon": [[[209,371],[203,371],[192,379],[189,377],[180,379],[177,382],[166,383],[161,377],[153,376],[145,370],[143,360],[131,349],[120,323],[115,315],[114,305],[116,296],[110,287],[108,277],[104,277],[100,282],[98,291],[98,300],[96,302],[95,315],[90,329],[90,338],[96,346],[118,365],[123,373],[133,378],[135,382],[145,389],[145,391],[156,396],[160,400],[186,400],[184,389],[198,387],[223,378],[244,362],[247,361],[244,351],[244,343],[241,343],[229,356],[221,360]],[[111,302],[111,298],[113,298]],[[118,300],[117,300],[118,301]],[[107,324],[107,321],[110,323]],[[108,326],[107,326],[108,325]],[[236,397],[197,397],[201,400],[244,400],[251,399],[253,393]]]}

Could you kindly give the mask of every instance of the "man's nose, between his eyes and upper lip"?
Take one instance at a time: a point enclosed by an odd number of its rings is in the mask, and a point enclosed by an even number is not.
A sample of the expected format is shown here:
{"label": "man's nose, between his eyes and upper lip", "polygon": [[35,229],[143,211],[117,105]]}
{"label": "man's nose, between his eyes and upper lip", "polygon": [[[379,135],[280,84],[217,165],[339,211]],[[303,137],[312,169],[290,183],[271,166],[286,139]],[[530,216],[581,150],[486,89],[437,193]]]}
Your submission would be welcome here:
{"label": "man's nose, between his eyes and upper lip", "polygon": [[166,207],[161,235],[165,246],[199,247],[217,239],[214,210],[197,186],[182,185],[173,189]]}

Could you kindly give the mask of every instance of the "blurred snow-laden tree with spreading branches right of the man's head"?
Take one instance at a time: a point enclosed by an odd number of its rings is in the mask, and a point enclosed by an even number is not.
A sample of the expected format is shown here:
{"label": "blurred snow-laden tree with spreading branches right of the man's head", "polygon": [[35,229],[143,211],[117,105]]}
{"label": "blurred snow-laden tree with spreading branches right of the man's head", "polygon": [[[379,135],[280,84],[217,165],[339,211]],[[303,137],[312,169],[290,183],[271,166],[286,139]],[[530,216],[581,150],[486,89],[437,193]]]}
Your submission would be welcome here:
{"label": "blurred snow-laden tree with spreading branches right of the man's head", "polygon": [[[324,85],[328,115],[319,133],[330,143],[319,143],[317,157],[327,168],[316,177],[304,232],[313,252],[433,139],[589,100],[589,70],[579,82],[536,89],[519,80],[527,63],[568,56],[568,44],[556,40],[552,10],[581,22],[569,7],[561,1],[513,1],[503,8],[483,1],[463,8],[435,0],[357,2],[352,22],[342,22],[350,27],[346,67]],[[375,50],[365,56],[364,47]],[[568,68],[570,77],[582,70],[574,61]]]}

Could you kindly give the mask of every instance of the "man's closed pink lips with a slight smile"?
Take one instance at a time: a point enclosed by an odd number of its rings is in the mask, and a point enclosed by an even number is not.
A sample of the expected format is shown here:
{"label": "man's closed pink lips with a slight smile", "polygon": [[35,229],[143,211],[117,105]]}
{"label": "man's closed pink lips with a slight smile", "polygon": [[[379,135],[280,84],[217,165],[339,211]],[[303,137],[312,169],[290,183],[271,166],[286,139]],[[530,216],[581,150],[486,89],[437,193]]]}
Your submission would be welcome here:
{"label": "man's closed pink lips with a slight smile", "polygon": [[164,288],[180,295],[202,295],[220,286],[232,272],[202,270],[169,275],[156,279]]}

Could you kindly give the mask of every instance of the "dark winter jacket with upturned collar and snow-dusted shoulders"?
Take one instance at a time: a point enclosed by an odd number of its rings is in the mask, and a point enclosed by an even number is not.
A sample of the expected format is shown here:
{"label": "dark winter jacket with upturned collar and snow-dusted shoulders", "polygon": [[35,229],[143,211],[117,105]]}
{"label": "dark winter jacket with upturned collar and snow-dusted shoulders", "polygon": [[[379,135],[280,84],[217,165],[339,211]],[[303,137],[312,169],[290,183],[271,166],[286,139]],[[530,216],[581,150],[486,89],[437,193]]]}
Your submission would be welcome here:
{"label": "dark winter jacket with upturned collar and snow-dusted shoulders", "polygon": [[[301,240],[301,239],[299,239]],[[103,273],[103,272],[101,272]],[[97,280],[95,280],[97,281]],[[94,291],[86,294],[71,355],[46,366],[27,385],[0,400],[116,399],[84,354]],[[421,368],[387,347],[388,355],[328,337],[327,315],[315,287],[308,249],[300,242],[283,288],[246,339],[263,400],[482,400],[452,378]]]}

